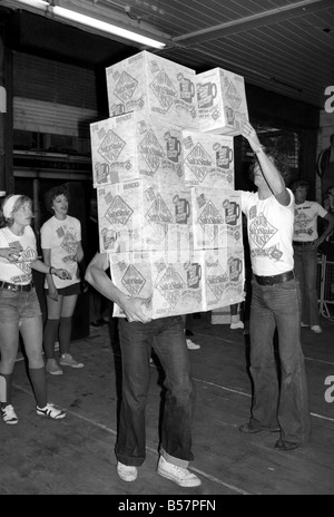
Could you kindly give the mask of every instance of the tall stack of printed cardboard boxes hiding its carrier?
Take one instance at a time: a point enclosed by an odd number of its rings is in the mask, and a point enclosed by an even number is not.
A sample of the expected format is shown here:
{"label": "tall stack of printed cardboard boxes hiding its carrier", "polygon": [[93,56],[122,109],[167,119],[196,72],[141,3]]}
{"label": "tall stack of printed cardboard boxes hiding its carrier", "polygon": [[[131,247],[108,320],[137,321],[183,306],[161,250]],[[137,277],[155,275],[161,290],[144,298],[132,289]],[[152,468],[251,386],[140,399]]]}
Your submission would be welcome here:
{"label": "tall stack of printed cardboard boxes hiding its carrier", "polygon": [[[233,137],[244,80],[143,51],[107,69],[109,115],[91,125],[100,252],[153,319],[243,301]],[[124,315],[116,308],[115,315]]]}

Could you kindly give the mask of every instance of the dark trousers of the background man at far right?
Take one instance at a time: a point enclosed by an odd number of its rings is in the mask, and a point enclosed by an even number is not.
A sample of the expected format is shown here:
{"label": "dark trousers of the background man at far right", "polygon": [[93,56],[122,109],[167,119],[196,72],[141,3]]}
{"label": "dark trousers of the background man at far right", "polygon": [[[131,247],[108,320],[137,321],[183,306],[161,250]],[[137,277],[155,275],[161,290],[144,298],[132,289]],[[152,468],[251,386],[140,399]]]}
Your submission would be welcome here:
{"label": "dark trousers of the background man at far right", "polygon": [[294,246],[295,273],[302,292],[302,321],[318,325],[317,305],[317,250],[311,246]]}

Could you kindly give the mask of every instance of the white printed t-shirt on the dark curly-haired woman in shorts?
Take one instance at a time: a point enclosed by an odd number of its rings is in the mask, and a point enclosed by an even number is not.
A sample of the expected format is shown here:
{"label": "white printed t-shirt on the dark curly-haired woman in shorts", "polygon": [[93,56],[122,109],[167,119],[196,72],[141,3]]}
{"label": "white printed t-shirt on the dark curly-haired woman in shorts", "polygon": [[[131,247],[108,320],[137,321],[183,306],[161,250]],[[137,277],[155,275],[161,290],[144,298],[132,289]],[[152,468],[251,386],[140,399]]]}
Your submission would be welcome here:
{"label": "white printed t-shirt on the dark curly-haired woman in shorts", "polygon": [[[71,280],[61,280],[53,275],[57,289],[80,282],[78,262],[76,254],[78,244],[81,242],[81,224],[76,217],[68,215],[66,220],[59,221],[50,217],[40,228],[41,248],[51,250],[51,265],[56,269],[67,270]],[[47,280],[45,286],[48,287]]]}

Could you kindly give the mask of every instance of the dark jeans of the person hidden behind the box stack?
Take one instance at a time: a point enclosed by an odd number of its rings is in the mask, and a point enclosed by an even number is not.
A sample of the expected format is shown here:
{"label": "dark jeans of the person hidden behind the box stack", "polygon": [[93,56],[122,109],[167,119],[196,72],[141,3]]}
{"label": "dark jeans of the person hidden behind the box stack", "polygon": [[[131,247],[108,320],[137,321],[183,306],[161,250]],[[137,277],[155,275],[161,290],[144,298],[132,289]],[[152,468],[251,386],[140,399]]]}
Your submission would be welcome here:
{"label": "dark jeans of the person hidden behind the box stack", "polygon": [[[149,388],[151,348],[165,370],[165,407],[161,449],[169,461],[187,467],[191,453],[194,386],[180,316],[149,323],[119,319],[122,362],[122,397],[116,456],[125,465],[140,466],[146,456],[146,403]],[[158,416],[157,416],[158,420]]]}

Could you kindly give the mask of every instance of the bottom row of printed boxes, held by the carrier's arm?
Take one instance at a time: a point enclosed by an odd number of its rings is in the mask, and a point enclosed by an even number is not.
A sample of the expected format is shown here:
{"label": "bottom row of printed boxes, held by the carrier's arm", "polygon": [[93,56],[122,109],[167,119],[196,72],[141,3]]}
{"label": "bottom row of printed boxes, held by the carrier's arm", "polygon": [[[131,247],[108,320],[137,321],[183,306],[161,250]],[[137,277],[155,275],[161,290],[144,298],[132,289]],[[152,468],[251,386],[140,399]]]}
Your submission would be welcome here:
{"label": "bottom row of printed boxes, held by the carrier's arm", "polygon": [[[143,299],[153,319],[204,312],[244,300],[243,250],[110,254],[112,282]],[[125,316],[115,305],[115,316]]]}

